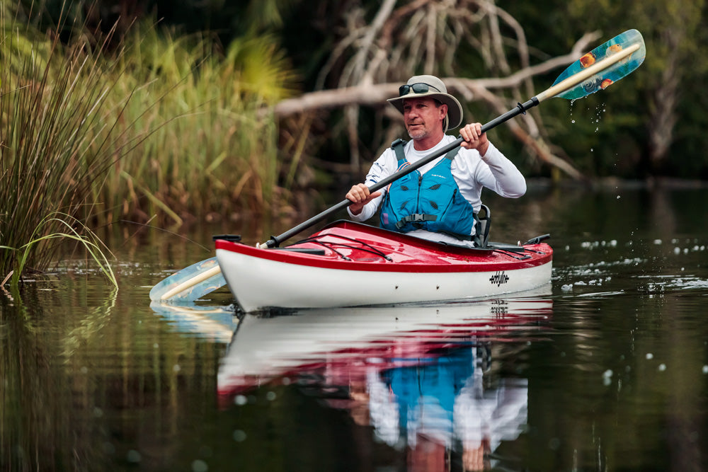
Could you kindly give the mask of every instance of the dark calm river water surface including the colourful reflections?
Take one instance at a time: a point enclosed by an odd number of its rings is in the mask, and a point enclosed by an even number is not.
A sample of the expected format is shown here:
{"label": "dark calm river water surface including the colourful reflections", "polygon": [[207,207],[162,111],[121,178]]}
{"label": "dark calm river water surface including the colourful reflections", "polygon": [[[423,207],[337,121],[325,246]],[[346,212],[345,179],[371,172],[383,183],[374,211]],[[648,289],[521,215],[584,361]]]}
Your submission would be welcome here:
{"label": "dark calm river water surface including the colourful reflections", "polygon": [[0,292],[0,468],[704,470],[707,197],[487,197],[493,240],[552,234],[551,286],[289,316],[151,307],[212,254],[122,229],[117,291],[79,267]]}

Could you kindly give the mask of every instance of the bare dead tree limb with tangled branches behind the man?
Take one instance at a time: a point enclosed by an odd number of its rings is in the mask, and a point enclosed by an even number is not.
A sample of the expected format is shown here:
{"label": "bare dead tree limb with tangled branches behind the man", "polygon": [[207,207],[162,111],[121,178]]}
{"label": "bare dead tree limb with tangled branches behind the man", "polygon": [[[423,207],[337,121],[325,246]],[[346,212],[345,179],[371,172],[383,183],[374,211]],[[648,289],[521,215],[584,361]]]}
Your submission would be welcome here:
{"label": "bare dead tree limb with tangled branches behind the man", "polygon": [[[529,98],[535,76],[575,61],[598,38],[596,33],[583,35],[569,54],[532,66],[523,27],[495,0],[382,0],[371,12],[361,1],[351,0],[339,23],[339,39],[316,79],[316,91],[282,100],[275,105],[274,113],[284,118],[343,110],[344,126],[340,129],[348,139],[350,167],[357,173],[362,154],[360,108],[373,108],[379,117],[396,117],[385,100],[395,96],[401,81],[409,76],[441,76],[448,91],[463,102],[482,100],[495,110],[506,107],[506,111]],[[459,76],[455,57],[460,50],[476,56],[488,77]],[[519,64],[520,70],[512,74],[510,64]],[[324,89],[324,84],[334,88]],[[580,173],[570,163],[548,151],[551,146],[545,141],[540,113],[533,110],[529,115],[534,119],[527,117],[510,125],[515,137],[539,161],[578,178]],[[398,127],[392,129],[400,132]],[[378,132],[377,142],[365,146],[384,146],[387,143],[380,139],[390,134]]]}

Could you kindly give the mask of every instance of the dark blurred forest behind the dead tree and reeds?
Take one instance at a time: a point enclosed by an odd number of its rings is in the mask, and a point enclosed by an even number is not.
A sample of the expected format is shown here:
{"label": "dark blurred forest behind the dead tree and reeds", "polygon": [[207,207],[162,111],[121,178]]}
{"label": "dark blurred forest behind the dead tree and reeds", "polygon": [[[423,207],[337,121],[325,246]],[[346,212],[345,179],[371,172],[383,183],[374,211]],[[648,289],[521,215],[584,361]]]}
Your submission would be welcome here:
{"label": "dark blurred forest behind the dead tree and reeds", "polygon": [[[57,18],[61,0],[45,1],[35,8],[46,8],[49,23]],[[83,10],[94,2],[74,2]],[[346,73],[346,55],[356,54],[356,44],[335,61],[324,80],[321,71],[331,59],[333,48],[355,28],[364,28],[374,20],[382,6],[380,0],[103,0],[98,18],[111,25],[119,18],[127,25],[132,18],[148,18],[171,25],[183,33],[209,31],[222,45],[249,35],[275,35],[297,74],[294,93],[319,88],[336,88]],[[708,178],[708,159],[704,153],[708,115],[704,79],[708,59],[708,32],[701,28],[703,1],[558,1],[542,4],[527,1],[396,1],[394,11],[409,8],[425,12],[431,4],[456,4],[451,15],[474,15],[485,6],[500,8],[523,28],[531,62],[566,54],[585,33],[598,33],[595,45],[636,28],[646,41],[645,64],[632,76],[607,91],[569,105],[565,100],[543,105],[544,134],[553,146],[561,149],[564,159],[588,178],[613,175],[621,178],[646,178],[665,175],[678,178]],[[76,11],[81,8],[74,6]],[[356,13],[355,13],[356,12]],[[78,13],[77,13],[78,14]],[[404,18],[404,20],[409,17]],[[405,22],[402,22],[403,24]],[[401,26],[403,28],[403,26]],[[502,35],[513,36],[508,25],[501,25]],[[505,30],[506,28],[506,30]],[[484,28],[480,29],[484,34]],[[447,34],[455,34],[447,31]],[[424,45],[420,45],[424,47]],[[435,73],[481,78],[503,76],[500,69],[489,69],[476,57],[474,45],[459,46],[455,57],[438,53],[440,64]],[[452,64],[442,64],[443,59]],[[511,71],[515,71],[510,64]],[[339,68],[338,68],[339,67]],[[549,86],[562,69],[536,77],[537,91]],[[396,76],[397,75],[397,76]],[[392,72],[389,81],[404,81],[406,74]],[[484,103],[467,103],[476,120],[491,120],[495,115]],[[341,110],[319,110],[326,118],[313,128],[312,155],[319,159],[348,162],[348,146],[340,129]],[[364,110],[358,119],[363,158],[375,158],[382,143],[375,142],[379,130],[372,110]],[[381,125],[387,125],[381,122]],[[317,139],[319,136],[320,139]],[[326,138],[326,139],[323,139]],[[500,130],[497,139],[512,139]],[[327,141],[324,143],[324,141]],[[523,144],[510,144],[513,152],[525,154]],[[521,159],[527,173],[549,175],[552,166],[539,165],[535,159]]]}

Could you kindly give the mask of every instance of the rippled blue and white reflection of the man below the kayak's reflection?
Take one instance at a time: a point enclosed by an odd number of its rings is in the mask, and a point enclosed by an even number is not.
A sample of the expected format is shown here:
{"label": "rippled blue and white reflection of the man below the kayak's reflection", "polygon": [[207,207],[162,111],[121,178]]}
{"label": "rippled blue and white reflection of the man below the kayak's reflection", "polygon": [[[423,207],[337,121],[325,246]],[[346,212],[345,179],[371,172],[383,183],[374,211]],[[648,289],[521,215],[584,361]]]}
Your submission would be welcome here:
{"label": "rippled blue and white reflection of the man below the kayak's reflection", "polygon": [[[526,379],[484,387],[489,352],[468,345],[426,357],[394,355],[387,365],[396,367],[383,370],[370,364],[365,376],[349,377],[347,408],[383,442],[406,449],[411,471],[449,471],[453,454],[465,471],[489,469],[490,453],[518,438],[528,401]],[[328,383],[343,381],[329,377]]]}

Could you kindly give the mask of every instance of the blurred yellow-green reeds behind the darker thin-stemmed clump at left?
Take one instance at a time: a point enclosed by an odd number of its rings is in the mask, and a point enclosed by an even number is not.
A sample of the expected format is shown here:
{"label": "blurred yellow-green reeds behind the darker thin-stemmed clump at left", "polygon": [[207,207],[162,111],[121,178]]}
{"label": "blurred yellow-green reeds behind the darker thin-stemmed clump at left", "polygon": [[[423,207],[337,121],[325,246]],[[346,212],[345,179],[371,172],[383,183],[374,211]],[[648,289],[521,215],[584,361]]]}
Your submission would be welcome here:
{"label": "blurred yellow-green reeds behind the darker thin-stemmed clump at left", "polygon": [[125,43],[120,69],[130,72],[113,96],[132,94],[121,117],[149,139],[110,168],[96,197],[105,220],[182,224],[268,212],[280,166],[277,129],[264,110],[292,81],[275,41],[235,41],[220,54],[208,36],[139,25]]}

